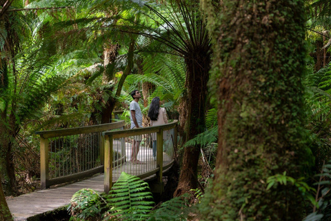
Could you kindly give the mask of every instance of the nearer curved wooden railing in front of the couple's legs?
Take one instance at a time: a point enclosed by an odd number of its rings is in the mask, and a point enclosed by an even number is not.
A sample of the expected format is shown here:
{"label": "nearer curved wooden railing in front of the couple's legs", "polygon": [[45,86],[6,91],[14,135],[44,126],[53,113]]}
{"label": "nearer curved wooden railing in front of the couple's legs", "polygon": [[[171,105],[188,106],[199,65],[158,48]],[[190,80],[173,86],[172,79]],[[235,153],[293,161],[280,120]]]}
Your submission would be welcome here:
{"label": "nearer curved wooden railing in front of the couple's legs", "polygon": [[[110,191],[112,183],[117,180],[121,172],[137,175],[141,178],[156,175],[157,181],[162,184],[163,170],[170,167],[174,161],[174,148],[177,147],[176,126],[177,120],[162,126],[103,132],[105,141],[104,191],[106,193]],[[133,140],[139,141],[139,164],[130,162],[132,160],[130,155],[133,151]],[[155,161],[152,155],[153,141],[157,144]],[[166,145],[163,145],[163,142]],[[117,157],[114,157],[114,154]],[[117,162],[113,162],[113,159],[116,158]]]}

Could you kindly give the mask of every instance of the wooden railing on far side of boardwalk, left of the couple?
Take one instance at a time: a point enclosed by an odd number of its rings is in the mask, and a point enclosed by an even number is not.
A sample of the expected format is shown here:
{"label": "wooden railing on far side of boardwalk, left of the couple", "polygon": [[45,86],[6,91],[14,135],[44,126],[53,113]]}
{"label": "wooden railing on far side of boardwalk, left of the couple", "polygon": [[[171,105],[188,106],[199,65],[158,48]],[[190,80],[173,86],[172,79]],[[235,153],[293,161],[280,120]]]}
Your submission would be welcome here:
{"label": "wooden railing on far side of boardwalk, left of the couple", "polygon": [[120,121],[36,132],[40,135],[41,189],[102,172],[104,141],[101,133],[123,130],[124,124]]}

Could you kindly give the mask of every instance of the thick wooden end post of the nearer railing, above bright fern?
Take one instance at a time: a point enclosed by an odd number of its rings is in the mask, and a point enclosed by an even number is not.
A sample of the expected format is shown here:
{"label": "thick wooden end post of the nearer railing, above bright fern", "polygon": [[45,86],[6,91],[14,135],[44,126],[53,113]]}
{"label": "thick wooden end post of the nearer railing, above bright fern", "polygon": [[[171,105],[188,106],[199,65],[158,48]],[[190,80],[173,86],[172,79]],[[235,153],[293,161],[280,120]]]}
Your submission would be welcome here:
{"label": "thick wooden end post of the nearer railing, above bright fern", "polygon": [[104,180],[104,191],[108,193],[112,188],[112,135],[105,136],[105,180]]}

